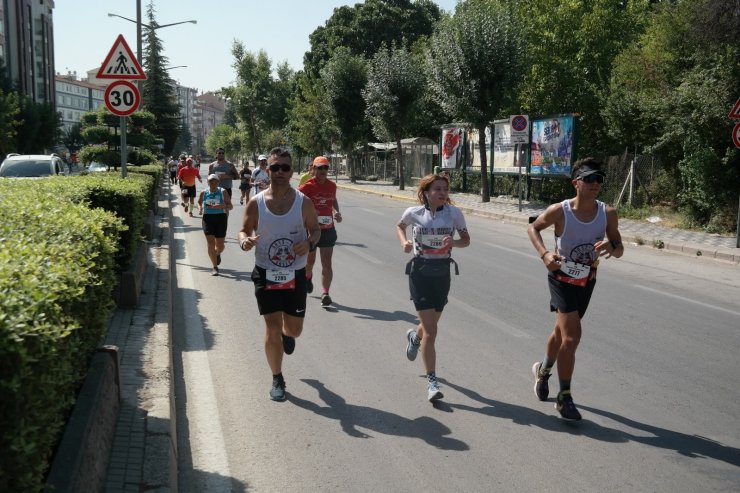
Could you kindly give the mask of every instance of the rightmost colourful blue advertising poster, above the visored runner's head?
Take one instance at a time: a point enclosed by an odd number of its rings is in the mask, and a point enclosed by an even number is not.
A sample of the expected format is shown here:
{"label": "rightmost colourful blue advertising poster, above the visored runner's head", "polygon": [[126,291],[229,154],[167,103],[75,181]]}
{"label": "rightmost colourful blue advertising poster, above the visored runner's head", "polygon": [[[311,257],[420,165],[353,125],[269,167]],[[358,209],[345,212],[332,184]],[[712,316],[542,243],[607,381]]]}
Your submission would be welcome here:
{"label": "rightmost colourful blue advertising poster, above the visored runner's head", "polygon": [[570,176],[574,130],[572,115],[532,120],[533,175]]}

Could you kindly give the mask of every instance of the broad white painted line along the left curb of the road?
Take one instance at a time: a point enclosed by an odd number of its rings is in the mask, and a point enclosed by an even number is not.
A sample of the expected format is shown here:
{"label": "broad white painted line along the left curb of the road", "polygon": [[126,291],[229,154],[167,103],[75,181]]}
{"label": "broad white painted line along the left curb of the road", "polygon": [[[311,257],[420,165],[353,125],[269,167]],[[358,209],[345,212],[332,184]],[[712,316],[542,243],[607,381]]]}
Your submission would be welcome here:
{"label": "broad white painted line along the left curb of the road", "polygon": [[[182,241],[183,266],[190,265],[185,235],[176,233]],[[185,347],[182,367],[187,387],[187,419],[190,423],[190,448],[193,469],[214,474],[204,475],[204,491],[231,491],[231,473],[226,455],[221,420],[219,419],[216,393],[213,389],[211,366],[208,362],[203,323],[197,306],[195,283],[192,270],[178,268],[178,283],[183,293],[185,310]]]}

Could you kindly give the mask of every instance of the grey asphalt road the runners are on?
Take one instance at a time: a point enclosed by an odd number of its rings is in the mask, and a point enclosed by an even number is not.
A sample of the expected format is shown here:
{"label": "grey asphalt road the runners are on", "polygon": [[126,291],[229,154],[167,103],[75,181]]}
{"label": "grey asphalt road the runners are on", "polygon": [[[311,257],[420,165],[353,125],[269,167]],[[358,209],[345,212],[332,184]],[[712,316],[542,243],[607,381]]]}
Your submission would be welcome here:
{"label": "grey asphalt road the runners are on", "polygon": [[530,375],[553,324],[545,269],[522,225],[469,216],[432,406],[405,357],[408,204],[340,191],[334,308],[317,282],[276,403],[235,202],[219,277],[200,219],[173,220],[180,491],[740,490],[738,266],[630,245],[603,262],[569,423]]}

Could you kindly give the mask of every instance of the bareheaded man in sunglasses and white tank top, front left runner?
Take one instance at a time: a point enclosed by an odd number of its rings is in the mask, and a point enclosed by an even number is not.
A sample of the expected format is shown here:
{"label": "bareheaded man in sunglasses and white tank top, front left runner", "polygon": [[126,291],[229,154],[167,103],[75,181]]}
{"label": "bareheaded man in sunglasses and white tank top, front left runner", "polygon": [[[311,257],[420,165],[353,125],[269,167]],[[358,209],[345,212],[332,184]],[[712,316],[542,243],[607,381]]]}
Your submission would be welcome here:
{"label": "bareheaded man in sunglasses and white tank top, front left runner", "polygon": [[283,352],[292,354],[306,314],[306,260],[321,230],[309,199],[290,186],[291,156],[276,147],[268,158],[270,185],[247,202],[239,246],[254,248],[252,283],[265,318],[265,355],[272,371],[270,399],[285,400]]}

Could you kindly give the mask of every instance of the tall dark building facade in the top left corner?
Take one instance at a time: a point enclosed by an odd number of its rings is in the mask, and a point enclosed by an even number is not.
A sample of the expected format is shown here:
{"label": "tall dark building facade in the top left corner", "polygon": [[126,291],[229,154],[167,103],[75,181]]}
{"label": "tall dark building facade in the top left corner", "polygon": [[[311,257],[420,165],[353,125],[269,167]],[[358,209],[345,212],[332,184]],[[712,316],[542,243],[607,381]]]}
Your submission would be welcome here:
{"label": "tall dark building facade in the top left corner", "polygon": [[54,0],[0,0],[0,56],[9,79],[36,103],[54,103]]}

